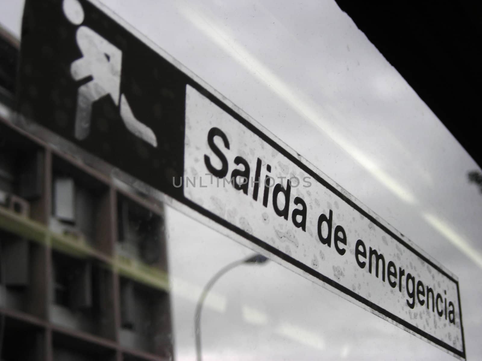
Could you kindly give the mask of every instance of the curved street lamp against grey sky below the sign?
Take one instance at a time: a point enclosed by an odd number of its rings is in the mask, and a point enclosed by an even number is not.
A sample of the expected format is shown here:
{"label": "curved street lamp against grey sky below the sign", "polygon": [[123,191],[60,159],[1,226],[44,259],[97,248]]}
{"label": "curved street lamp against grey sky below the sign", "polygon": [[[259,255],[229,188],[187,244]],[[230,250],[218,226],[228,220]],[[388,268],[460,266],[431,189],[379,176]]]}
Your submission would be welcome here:
{"label": "curved street lamp against grey sky below the sign", "polygon": [[232,270],[233,268],[241,264],[263,264],[268,261],[263,255],[255,254],[248,258],[243,258],[234,262],[229,263],[222,269],[217,271],[214,276],[209,280],[209,282],[204,286],[201,296],[199,297],[198,303],[196,305],[196,313],[194,314],[194,334],[196,335],[196,355],[197,361],[201,361],[201,310],[204,303],[204,299],[208,295],[209,291],[213,287],[214,283],[226,272]]}

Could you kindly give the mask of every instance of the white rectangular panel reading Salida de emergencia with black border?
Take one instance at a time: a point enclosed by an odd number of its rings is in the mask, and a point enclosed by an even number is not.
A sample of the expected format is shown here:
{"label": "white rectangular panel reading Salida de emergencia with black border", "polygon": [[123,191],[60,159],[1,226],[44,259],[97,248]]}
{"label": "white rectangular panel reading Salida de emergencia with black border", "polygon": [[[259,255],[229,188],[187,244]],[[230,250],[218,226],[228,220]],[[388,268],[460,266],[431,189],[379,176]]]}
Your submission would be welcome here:
{"label": "white rectangular panel reading Salida de emergencia with black border", "polygon": [[462,353],[455,277],[235,116],[187,86],[185,197],[308,277]]}

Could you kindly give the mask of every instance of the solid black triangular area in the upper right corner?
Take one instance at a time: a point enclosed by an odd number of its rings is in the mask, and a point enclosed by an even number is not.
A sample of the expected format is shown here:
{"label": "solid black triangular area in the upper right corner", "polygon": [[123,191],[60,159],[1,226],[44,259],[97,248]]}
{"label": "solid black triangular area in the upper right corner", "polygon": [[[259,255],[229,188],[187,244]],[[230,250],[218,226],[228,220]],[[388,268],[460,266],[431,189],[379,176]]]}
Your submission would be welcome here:
{"label": "solid black triangular area in the upper right corner", "polygon": [[482,1],[335,1],[482,168]]}

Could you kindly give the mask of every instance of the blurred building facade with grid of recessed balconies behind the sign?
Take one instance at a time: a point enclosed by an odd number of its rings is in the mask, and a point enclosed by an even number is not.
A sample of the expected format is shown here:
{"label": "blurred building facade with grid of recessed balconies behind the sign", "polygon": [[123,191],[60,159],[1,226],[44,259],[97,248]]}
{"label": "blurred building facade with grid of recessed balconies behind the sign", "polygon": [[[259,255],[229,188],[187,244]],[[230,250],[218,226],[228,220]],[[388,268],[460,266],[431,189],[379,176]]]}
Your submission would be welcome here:
{"label": "blurred building facade with grid of recessed balconies behind the sign", "polygon": [[13,123],[0,29],[0,359],[173,360],[164,211]]}

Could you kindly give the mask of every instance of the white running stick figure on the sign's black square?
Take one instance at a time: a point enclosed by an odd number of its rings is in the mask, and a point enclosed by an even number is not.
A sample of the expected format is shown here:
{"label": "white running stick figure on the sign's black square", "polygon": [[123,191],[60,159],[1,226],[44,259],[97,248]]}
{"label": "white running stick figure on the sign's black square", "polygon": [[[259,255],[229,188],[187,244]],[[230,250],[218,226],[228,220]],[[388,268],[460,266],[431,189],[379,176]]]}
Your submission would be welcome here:
{"label": "white running stick figure on the sign's black square", "polygon": [[[78,0],[64,0],[64,14],[74,25],[82,24],[84,11]],[[110,95],[120,106],[120,117],[126,128],[143,141],[157,147],[157,138],[152,129],[138,121],[127,102],[120,94],[122,52],[87,26],[79,26],[76,33],[77,45],[82,57],[70,66],[74,80],[92,77],[81,85],[77,94],[75,114],[75,137],[87,138],[90,132],[92,105],[105,95]]]}

